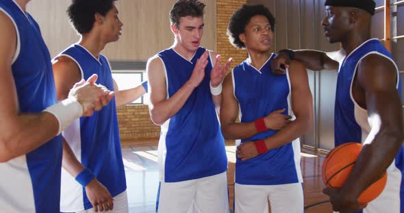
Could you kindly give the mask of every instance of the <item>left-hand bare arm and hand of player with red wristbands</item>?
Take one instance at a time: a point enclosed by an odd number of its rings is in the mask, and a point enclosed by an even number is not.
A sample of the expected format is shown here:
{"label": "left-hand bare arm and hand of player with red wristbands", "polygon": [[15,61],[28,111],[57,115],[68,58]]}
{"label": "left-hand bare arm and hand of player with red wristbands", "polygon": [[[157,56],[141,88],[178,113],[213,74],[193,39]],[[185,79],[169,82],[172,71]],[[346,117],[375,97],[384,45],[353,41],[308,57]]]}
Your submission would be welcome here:
{"label": "left-hand bare arm and hand of player with red wristbands", "polygon": [[[223,81],[222,104],[220,106],[220,124],[225,139],[247,139],[257,134],[254,122],[236,122],[238,117],[238,102],[233,95],[232,72]],[[273,111],[264,117],[265,126],[279,130],[290,123],[290,115],[283,115],[285,109]]]}

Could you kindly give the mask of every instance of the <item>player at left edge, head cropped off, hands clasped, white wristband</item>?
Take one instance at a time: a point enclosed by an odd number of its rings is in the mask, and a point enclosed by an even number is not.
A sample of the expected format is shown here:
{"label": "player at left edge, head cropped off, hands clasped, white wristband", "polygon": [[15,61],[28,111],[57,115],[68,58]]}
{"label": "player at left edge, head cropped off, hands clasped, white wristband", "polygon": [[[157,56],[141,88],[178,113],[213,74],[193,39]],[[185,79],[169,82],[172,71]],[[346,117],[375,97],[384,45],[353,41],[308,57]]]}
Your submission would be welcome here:
{"label": "player at left edge, head cropped off, hands clasped, white wristband", "polygon": [[92,76],[56,103],[51,57],[38,24],[25,12],[28,2],[0,1],[0,212],[54,213],[62,166],[57,135],[113,94],[94,85]]}

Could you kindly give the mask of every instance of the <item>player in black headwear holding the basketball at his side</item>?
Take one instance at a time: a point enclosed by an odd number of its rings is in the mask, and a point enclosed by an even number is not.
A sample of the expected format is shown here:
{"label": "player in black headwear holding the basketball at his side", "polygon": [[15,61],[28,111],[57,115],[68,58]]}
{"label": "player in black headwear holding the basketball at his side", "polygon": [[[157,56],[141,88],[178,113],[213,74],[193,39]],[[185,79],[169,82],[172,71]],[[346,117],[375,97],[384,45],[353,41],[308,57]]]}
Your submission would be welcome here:
{"label": "player in black headwear holding the basketball at his side", "polygon": [[342,44],[344,61],[333,61],[320,51],[286,50],[274,60],[274,66],[282,72],[279,65],[288,64],[291,57],[303,61],[310,70],[339,68],[335,145],[356,141],[364,147],[346,184],[339,190],[324,190],[333,210],[364,208],[366,203],[357,203],[357,197],[387,169],[383,193],[360,212],[404,212],[401,80],[392,55],[379,40],[370,38],[375,2],[327,0],[325,7],[325,36],[331,43]]}

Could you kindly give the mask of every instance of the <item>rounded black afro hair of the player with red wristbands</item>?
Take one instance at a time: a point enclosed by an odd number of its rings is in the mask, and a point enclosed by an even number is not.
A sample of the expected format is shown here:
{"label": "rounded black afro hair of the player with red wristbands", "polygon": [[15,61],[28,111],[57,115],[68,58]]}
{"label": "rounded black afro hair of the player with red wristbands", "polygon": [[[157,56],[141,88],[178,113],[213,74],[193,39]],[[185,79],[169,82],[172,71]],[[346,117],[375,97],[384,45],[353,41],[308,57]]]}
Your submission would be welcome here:
{"label": "rounded black afro hair of the player with red wristbands", "polygon": [[238,35],[244,33],[245,27],[249,24],[251,18],[258,15],[265,16],[272,30],[275,29],[275,17],[264,5],[242,5],[242,8],[231,16],[229,26],[227,27],[227,35],[229,35],[229,41],[233,46],[245,48],[244,43],[238,38]]}

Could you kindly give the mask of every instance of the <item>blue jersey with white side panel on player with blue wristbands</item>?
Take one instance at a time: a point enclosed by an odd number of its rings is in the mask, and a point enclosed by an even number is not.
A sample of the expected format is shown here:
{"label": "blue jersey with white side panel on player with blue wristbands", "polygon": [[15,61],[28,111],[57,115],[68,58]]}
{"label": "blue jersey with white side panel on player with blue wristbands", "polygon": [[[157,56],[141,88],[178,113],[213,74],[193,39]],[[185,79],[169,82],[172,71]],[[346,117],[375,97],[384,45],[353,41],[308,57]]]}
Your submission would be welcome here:
{"label": "blue jersey with white side panel on player with blue wristbands", "polygon": [[[92,74],[97,74],[97,83],[114,91],[110,64],[103,55],[99,55],[99,59],[96,59],[79,44],[73,44],[60,55],[69,57],[77,63],[82,78],[88,79]],[[81,117],[79,121],[69,126],[63,135],[77,159],[108,188],[112,197],[126,190],[115,98],[101,111],[94,112],[91,117]],[[76,212],[89,208],[92,208],[92,205],[86,196],[86,188],[62,170],[62,212]]]}

